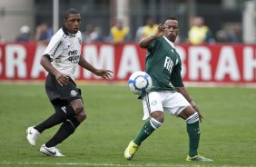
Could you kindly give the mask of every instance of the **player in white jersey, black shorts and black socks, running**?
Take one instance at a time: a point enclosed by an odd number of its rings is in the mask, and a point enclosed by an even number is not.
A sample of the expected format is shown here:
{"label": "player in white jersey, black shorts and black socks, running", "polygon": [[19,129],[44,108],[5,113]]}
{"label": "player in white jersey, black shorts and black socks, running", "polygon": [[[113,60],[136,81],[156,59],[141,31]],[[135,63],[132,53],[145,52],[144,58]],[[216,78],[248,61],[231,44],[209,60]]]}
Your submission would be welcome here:
{"label": "player in white jersey, black shorts and black socks, running", "polygon": [[74,133],[74,130],[86,118],[81,90],[74,83],[77,65],[105,79],[109,79],[113,73],[110,70],[94,68],[81,55],[80,24],[79,12],[74,8],[68,9],[65,12],[64,26],[54,34],[41,59],[41,64],[49,73],[45,81],[45,91],[54,106],[55,113],[43,123],[29,127],[26,130],[26,138],[34,146],[37,137],[44,130],[62,123],[53,138],[40,148],[40,152],[50,156],[64,156],[56,145]]}

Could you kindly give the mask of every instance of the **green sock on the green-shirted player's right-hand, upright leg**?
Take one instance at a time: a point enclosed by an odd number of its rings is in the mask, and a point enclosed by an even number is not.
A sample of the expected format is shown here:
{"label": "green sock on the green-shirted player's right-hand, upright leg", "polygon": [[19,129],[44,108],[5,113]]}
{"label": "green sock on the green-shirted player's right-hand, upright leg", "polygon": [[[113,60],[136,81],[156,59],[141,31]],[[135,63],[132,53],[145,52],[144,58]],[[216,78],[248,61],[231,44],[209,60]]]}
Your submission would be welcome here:
{"label": "green sock on the green-shirted player's right-hand, upright leg", "polygon": [[189,155],[193,157],[198,154],[197,149],[198,149],[199,140],[200,140],[199,122],[187,123],[187,133],[189,134],[189,140],[190,140]]}

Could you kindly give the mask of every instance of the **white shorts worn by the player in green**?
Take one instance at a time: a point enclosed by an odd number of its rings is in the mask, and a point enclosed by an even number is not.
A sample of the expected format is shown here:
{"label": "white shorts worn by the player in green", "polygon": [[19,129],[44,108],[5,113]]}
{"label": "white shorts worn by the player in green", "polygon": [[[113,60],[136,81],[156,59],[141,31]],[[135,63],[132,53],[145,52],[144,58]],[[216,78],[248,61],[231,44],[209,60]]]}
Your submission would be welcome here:
{"label": "white shorts worn by the player in green", "polygon": [[177,92],[152,92],[143,96],[143,120],[150,118],[151,113],[156,111],[170,113],[178,116],[191,104],[181,93]]}

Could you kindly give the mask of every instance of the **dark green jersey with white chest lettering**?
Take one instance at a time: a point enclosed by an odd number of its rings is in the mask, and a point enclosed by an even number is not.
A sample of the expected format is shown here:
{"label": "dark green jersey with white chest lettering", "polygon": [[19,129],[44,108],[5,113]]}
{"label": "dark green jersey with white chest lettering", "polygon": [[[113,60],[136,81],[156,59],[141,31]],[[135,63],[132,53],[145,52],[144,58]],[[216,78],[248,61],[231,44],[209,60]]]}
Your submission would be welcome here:
{"label": "dark green jersey with white chest lettering", "polygon": [[153,80],[150,92],[175,92],[174,87],[184,86],[180,55],[166,40],[167,38],[159,37],[147,48],[145,71]]}

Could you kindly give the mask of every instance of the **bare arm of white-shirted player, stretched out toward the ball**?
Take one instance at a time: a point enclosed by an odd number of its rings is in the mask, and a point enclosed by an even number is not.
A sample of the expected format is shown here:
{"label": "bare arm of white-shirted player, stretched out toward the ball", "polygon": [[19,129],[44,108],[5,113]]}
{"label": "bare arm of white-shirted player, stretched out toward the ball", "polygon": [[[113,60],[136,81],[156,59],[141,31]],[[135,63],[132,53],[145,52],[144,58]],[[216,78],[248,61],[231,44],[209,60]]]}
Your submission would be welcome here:
{"label": "bare arm of white-shirted player, stretched out toward the ball", "polygon": [[78,64],[82,66],[84,69],[89,70],[93,74],[97,76],[102,76],[104,79],[110,79],[112,77],[113,72],[111,70],[95,68],[92,64],[87,62],[82,55],[80,56]]}

